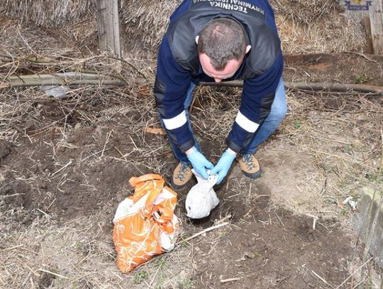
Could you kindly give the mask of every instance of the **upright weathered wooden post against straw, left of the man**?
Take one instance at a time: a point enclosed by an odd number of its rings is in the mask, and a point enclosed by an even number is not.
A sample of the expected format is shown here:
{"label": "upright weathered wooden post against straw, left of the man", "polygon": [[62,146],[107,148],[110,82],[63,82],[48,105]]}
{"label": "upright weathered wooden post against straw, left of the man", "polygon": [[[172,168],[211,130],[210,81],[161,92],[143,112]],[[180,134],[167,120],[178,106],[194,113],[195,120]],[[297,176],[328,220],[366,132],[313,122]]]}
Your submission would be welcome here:
{"label": "upright weathered wooden post against straw, left of the man", "polygon": [[121,58],[118,0],[98,0],[96,5],[99,48]]}

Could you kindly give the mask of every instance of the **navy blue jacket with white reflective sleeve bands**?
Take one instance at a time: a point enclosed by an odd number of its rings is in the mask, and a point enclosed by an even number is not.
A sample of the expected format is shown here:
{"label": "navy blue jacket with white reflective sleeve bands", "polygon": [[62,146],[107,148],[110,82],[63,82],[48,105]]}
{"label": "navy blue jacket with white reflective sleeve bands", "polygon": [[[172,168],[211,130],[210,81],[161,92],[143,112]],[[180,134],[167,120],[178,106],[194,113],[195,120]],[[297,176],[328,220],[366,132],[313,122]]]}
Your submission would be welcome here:
{"label": "navy blue jacket with white reflective sleeve bands", "polygon": [[240,152],[270,113],[283,57],[272,7],[266,0],[185,0],[170,16],[157,58],[155,99],[165,129],[181,151],[194,146],[184,101],[191,82],[214,82],[204,74],[195,37],[213,18],[238,21],[252,46],[242,65],[229,80],[244,80],[243,94],[228,147]]}

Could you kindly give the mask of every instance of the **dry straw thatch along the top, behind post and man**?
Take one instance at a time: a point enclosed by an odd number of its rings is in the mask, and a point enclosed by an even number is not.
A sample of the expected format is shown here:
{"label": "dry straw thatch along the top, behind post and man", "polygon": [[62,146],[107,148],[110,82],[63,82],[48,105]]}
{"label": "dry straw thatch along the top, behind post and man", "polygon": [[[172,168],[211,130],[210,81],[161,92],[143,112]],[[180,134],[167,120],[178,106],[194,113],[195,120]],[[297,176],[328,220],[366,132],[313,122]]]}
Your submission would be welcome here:
{"label": "dry straw thatch along the top, behind post and man", "polygon": [[[155,55],[157,45],[167,29],[169,17],[180,2],[121,1],[125,50],[143,50]],[[365,47],[361,24],[347,18],[338,1],[275,0],[272,5],[284,53],[362,52]],[[43,0],[30,3],[5,1],[0,9],[0,15],[18,19],[18,23],[65,28],[67,35],[77,42],[82,34],[86,35],[83,37],[87,40],[84,45],[89,45],[89,40],[96,44],[94,12],[92,1],[68,0],[58,1],[57,5],[45,5]]]}

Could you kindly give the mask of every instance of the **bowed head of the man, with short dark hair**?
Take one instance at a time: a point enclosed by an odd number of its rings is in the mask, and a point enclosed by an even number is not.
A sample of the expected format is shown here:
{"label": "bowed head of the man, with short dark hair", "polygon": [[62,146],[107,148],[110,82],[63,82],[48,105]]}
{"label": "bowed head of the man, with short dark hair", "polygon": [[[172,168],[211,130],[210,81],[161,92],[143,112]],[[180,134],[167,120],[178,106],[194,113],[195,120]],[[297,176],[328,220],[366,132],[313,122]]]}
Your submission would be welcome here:
{"label": "bowed head of the man, with short dark hair", "polygon": [[216,18],[196,36],[202,69],[216,82],[232,77],[251,46],[246,46],[245,31],[236,21]]}

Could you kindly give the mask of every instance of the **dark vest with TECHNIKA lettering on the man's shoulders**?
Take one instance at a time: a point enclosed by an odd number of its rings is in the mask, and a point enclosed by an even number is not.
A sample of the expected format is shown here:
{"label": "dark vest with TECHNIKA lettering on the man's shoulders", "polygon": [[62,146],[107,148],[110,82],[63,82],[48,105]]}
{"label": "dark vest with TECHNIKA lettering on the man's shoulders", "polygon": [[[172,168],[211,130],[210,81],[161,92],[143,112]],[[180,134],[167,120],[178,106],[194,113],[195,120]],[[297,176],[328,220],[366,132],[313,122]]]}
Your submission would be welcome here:
{"label": "dark vest with TECHNIKA lettering on the man's shoulders", "polygon": [[[238,5],[240,4],[240,5]],[[277,33],[265,22],[265,11],[246,1],[193,0],[189,11],[183,13],[168,30],[170,50],[174,59],[192,75],[199,73],[196,36],[214,18],[231,18],[242,24],[252,46],[238,79],[262,75],[281,51]]]}

